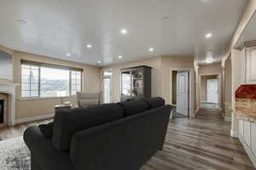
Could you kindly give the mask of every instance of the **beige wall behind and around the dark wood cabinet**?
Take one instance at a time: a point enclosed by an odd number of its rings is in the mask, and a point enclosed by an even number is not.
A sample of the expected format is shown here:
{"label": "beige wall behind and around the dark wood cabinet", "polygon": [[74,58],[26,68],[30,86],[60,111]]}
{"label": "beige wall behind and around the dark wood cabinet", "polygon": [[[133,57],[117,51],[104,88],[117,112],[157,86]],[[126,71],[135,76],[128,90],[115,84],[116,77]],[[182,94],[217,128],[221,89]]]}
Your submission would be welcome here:
{"label": "beige wall behind and around the dark wood cabinet", "polygon": [[120,100],[120,69],[138,65],[152,67],[152,96],[172,102],[172,68],[194,68],[194,57],[154,57],[120,65],[109,65],[102,69],[113,69],[113,101]]}

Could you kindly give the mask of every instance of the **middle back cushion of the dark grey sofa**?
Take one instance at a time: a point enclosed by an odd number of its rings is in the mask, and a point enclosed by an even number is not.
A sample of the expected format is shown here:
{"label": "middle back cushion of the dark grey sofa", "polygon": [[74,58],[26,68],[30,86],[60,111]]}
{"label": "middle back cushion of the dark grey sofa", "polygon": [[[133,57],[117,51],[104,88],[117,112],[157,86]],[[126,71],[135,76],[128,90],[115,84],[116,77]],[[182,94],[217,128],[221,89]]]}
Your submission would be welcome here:
{"label": "middle back cushion of the dark grey sofa", "polygon": [[124,108],[125,116],[132,116],[148,109],[148,105],[145,101],[143,101],[143,99],[124,101],[120,102],[119,105]]}

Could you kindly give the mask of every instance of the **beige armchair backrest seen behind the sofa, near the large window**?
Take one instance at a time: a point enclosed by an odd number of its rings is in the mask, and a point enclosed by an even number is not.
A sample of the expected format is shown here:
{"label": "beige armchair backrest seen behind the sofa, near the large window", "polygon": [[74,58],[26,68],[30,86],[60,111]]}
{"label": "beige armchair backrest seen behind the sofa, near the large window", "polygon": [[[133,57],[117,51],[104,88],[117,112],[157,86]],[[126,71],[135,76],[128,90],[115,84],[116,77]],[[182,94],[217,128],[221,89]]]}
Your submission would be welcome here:
{"label": "beige armchair backrest seen behind the sofa, near the large window", "polygon": [[100,93],[86,93],[77,92],[76,94],[76,106],[83,107],[89,105],[99,105],[100,104]]}

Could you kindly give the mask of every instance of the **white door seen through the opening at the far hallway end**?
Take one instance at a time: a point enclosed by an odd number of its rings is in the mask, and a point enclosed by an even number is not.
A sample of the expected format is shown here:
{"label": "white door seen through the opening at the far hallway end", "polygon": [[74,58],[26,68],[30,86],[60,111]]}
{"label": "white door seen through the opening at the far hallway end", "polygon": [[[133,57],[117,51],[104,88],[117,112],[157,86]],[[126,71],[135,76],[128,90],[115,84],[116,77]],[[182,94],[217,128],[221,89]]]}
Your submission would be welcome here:
{"label": "white door seen through the opening at the far hallway end", "polygon": [[218,104],[218,79],[207,80],[207,102]]}

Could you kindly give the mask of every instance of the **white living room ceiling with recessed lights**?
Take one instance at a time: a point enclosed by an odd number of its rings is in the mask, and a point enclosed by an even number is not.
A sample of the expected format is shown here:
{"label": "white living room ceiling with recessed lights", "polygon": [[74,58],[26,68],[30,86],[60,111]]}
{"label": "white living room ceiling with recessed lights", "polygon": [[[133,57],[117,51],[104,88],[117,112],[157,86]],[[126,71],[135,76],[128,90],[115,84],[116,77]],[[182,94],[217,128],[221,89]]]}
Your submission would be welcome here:
{"label": "white living room ceiling with recessed lights", "polygon": [[[97,65],[98,60],[101,65],[110,65],[152,56],[193,54],[199,62],[205,62],[208,50],[218,60],[246,3],[246,0],[1,0],[0,44],[90,65]],[[122,28],[127,29],[126,35],[120,33]],[[208,32],[212,38],[207,40]],[[93,47],[86,48],[87,43]],[[151,47],[154,52],[148,52]]]}

